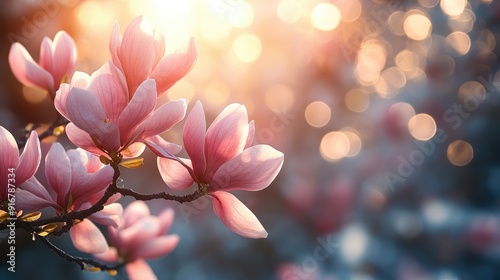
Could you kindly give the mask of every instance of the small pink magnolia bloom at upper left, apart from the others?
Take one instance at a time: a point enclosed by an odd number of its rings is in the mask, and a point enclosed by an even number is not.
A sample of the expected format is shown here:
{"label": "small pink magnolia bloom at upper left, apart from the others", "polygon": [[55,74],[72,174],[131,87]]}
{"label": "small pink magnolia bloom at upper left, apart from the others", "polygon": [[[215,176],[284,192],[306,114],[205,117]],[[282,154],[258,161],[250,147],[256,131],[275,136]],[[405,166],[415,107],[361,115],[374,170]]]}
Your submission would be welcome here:
{"label": "small pink magnolia bloom at upper left, apart from the others", "polygon": [[52,99],[59,84],[71,78],[76,64],[76,46],[64,31],[59,31],[52,42],[44,37],[40,46],[40,60],[36,63],[19,43],[12,44],[9,64],[14,76],[25,86],[39,87],[49,92]]}

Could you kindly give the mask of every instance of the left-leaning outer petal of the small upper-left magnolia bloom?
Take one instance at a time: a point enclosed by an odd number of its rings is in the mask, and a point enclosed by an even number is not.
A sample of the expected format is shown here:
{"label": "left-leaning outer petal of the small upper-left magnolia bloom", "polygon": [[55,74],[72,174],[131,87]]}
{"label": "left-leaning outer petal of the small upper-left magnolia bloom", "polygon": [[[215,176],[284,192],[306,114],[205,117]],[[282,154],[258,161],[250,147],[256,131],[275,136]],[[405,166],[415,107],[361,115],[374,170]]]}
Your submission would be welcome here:
{"label": "left-leaning outer petal of the small upper-left magnolia bloom", "polygon": [[54,89],[52,75],[40,67],[28,51],[19,43],[12,44],[9,52],[9,64],[16,79],[23,85],[39,87],[48,90]]}

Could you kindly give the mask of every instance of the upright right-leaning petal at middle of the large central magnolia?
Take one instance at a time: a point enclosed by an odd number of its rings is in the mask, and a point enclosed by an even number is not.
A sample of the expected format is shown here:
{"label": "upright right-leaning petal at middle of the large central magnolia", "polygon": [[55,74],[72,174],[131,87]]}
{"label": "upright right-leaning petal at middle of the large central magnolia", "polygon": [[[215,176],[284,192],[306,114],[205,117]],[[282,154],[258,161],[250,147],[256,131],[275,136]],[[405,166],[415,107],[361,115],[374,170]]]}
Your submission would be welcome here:
{"label": "upright right-leaning petal at middle of the large central magnolia", "polygon": [[154,80],[148,79],[137,88],[118,118],[122,144],[127,144],[134,134],[135,128],[153,112],[155,105],[156,84]]}

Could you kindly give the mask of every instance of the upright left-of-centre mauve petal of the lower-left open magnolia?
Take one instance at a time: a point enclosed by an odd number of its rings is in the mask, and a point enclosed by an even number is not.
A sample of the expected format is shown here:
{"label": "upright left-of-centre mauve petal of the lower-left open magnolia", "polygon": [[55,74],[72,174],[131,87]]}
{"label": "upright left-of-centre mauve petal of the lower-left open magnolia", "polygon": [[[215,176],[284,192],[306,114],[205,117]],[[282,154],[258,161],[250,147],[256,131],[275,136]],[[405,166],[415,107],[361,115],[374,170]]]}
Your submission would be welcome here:
{"label": "upright left-of-centre mauve petal of the lower-left open magnolia", "polygon": [[59,142],[52,144],[45,157],[45,178],[57,194],[57,204],[64,208],[71,186],[71,164]]}

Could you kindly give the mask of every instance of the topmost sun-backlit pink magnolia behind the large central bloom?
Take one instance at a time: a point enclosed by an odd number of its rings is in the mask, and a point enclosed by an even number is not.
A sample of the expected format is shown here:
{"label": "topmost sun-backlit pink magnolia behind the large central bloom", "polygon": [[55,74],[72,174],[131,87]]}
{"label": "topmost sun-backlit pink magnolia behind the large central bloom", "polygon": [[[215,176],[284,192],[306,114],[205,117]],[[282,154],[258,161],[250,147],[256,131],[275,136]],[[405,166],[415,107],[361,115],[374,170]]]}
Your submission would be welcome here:
{"label": "topmost sun-backlit pink magnolia behind the large central bloom", "polygon": [[164,56],[164,36],[153,30],[142,16],[128,25],[123,36],[115,23],[109,49],[113,64],[125,75],[129,94],[144,80],[152,78],[161,95],[191,70],[198,56],[194,39],[190,39],[185,53]]}

